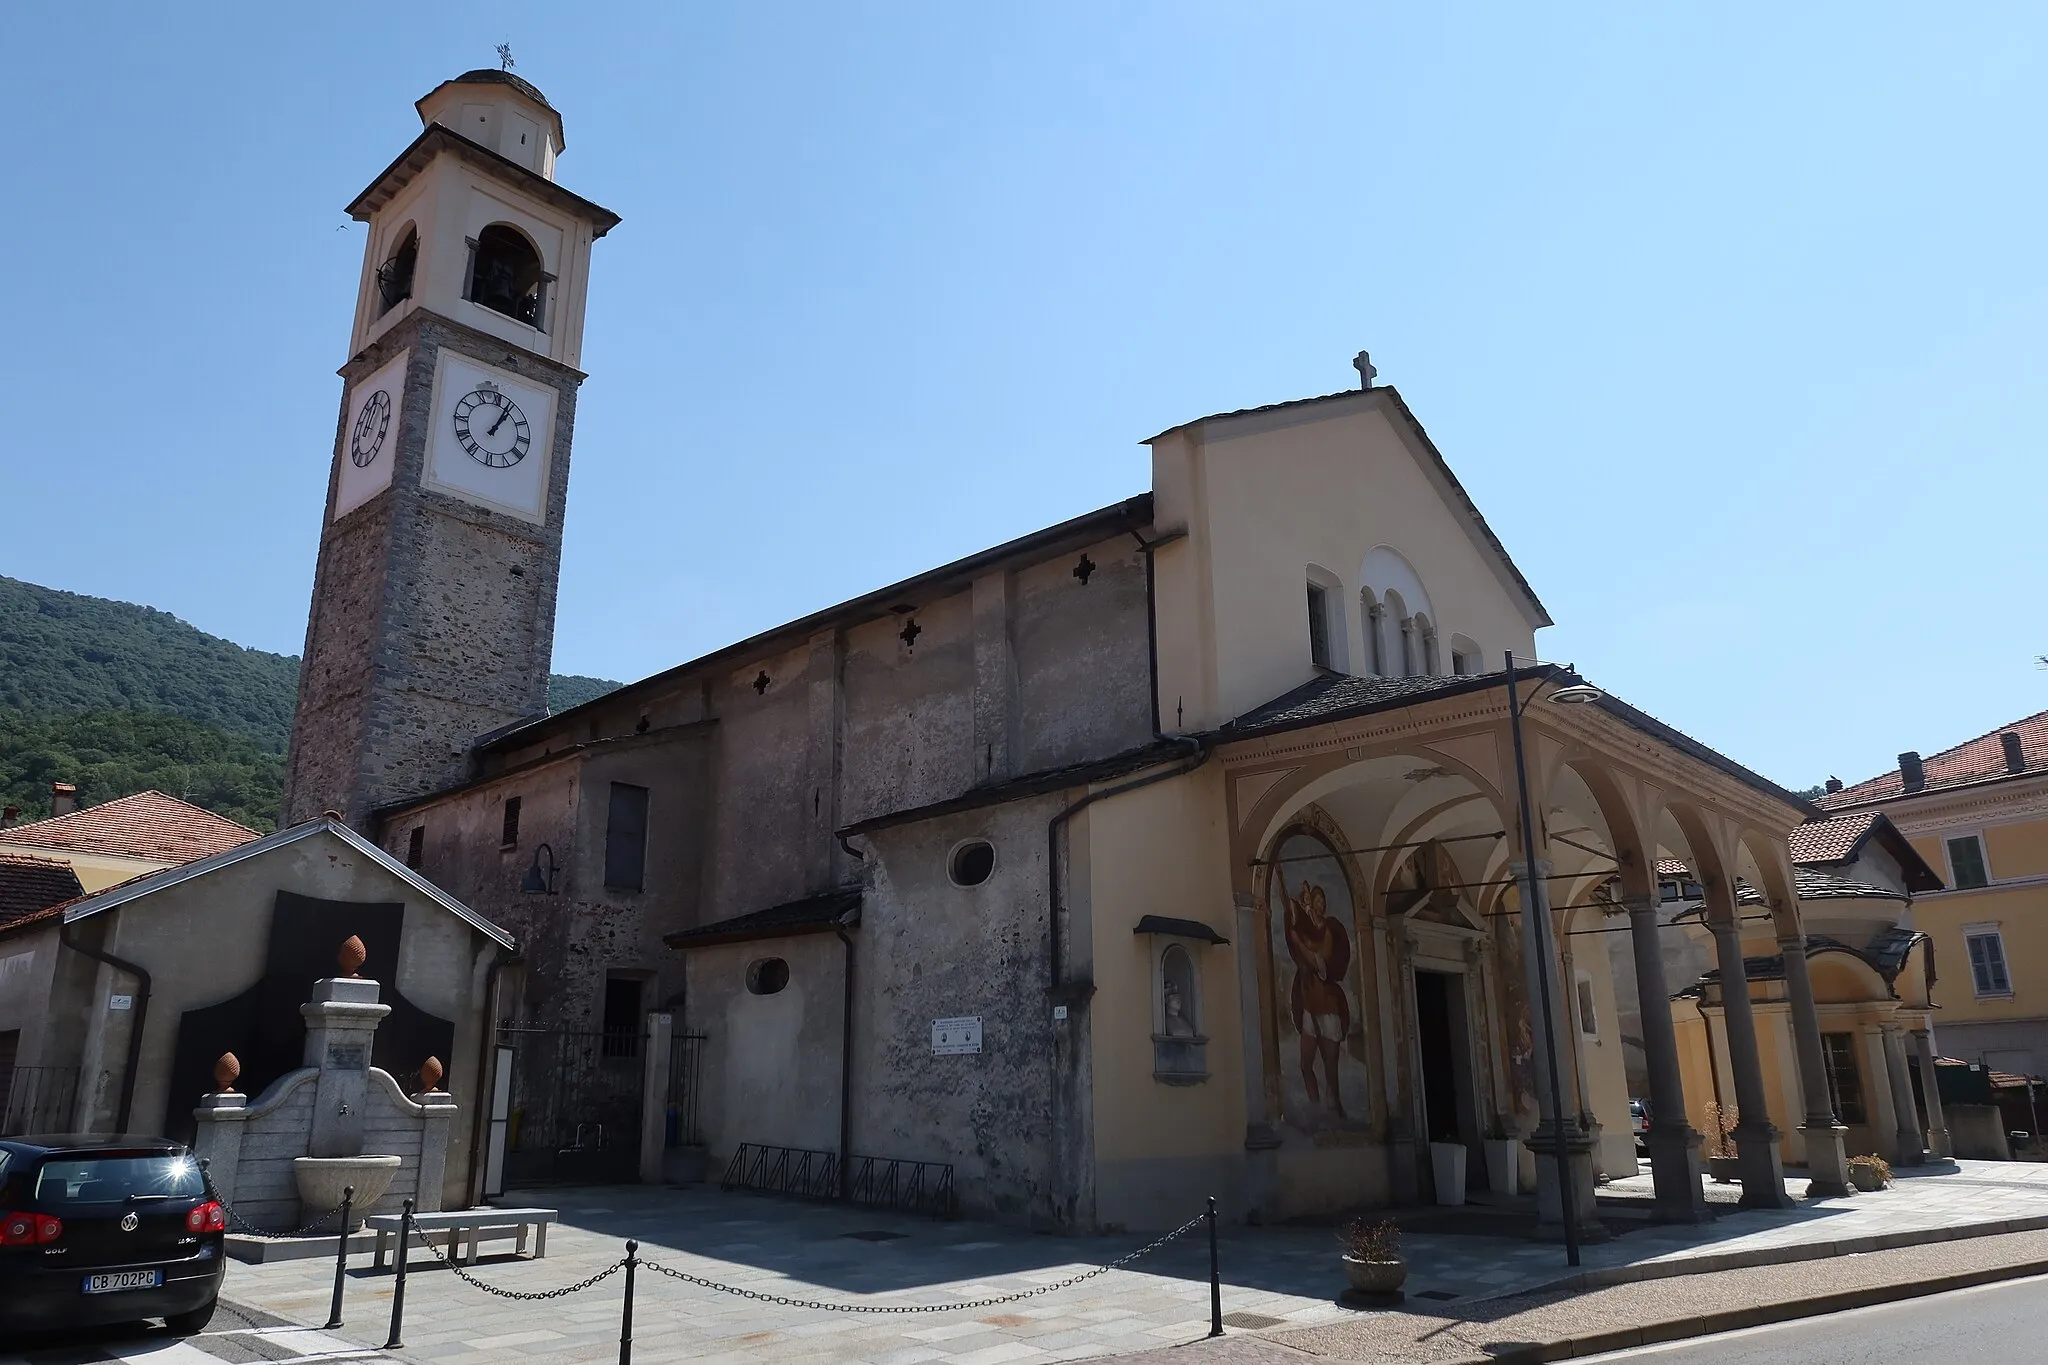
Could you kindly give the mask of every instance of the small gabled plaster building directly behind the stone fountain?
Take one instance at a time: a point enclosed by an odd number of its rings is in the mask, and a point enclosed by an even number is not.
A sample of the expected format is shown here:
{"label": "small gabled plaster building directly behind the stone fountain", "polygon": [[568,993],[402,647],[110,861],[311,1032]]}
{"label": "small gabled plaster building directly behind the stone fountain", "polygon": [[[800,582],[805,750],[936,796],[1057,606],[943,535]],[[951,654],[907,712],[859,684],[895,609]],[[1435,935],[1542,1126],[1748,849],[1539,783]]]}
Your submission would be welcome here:
{"label": "small gabled plaster building directly behind the stone fountain", "polygon": [[[4,886],[0,878],[0,886]],[[0,923],[0,1038],[68,1113],[39,1126],[190,1138],[213,1062],[248,1095],[301,1066],[299,1005],[362,939],[391,1015],[371,1064],[434,1056],[463,1105],[449,1199],[471,1197],[489,986],[512,937],[352,829],[311,821]]]}

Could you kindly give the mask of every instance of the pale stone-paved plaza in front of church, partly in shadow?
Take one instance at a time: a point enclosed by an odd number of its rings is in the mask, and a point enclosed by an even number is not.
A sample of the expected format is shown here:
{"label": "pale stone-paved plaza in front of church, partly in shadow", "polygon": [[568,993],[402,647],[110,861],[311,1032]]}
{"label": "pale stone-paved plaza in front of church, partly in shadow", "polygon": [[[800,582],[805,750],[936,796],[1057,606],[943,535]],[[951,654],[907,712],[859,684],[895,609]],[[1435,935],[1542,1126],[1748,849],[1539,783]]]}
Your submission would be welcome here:
{"label": "pale stone-paved plaza in front of church, partly in shadow", "polygon": [[[1636,1177],[1636,1179],[1647,1179]],[[1616,1193],[1626,1193],[1620,1183]],[[1798,1181],[1792,1181],[1798,1189]],[[489,1250],[477,1277],[506,1289],[551,1289],[592,1275],[641,1240],[641,1254],[692,1275],[786,1297],[944,1306],[1069,1279],[1145,1242],[1059,1238],[975,1222],[930,1222],[711,1189],[586,1187],[532,1199],[561,1209],[545,1261]],[[2048,1166],[1954,1162],[1903,1173],[1894,1189],[1726,1214],[1708,1228],[1651,1228],[1585,1248],[1585,1269],[1632,1275],[1706,1254],[1786,1254],[1853,1238],[1942,1238],[1960,1228],[2048,1222]],[[1567,1275],[1559,1246],[1489,1236],[1411,1234],[1409,1308],[1432,1310],[1550,1283]],[[326,1351],[385,1338],[391,1275],[358,1259],[346,1326]],[[606,1361],[618,1351],[621,1277],[547,1302],[504,1302],[414,1252],[406,1291],[406,1361]],[[328,1314],[332,1261],[233,1265],[227,1295],[297,1324]],[[1196,1340],[1208,1330],[1208,1252],[1200,1230],[1130,1269],[1040,1297],[932,1314],[842,1314],[786,1308],[682,1285],[641,1271],[635,1361],[778,1361],[850,1365],[999,1365],[1067,1361]],[[1352,1320],[1327,1228],[1225,1228],[1223,1310],[1233,1332]],[[268,1320],[268,1318],[264,1318]],[[223,1326],[223,1324],[217,1324]],[[225,1324],[242,1326],[242,1324]],[[213,1347],[213,1338],[199,1338]],[[221,1342],[225,1345],[225,1342]],[[362,1357],[358,1357],[362,1359]],[[4,1361],[4,1357],[0,1357]]]}

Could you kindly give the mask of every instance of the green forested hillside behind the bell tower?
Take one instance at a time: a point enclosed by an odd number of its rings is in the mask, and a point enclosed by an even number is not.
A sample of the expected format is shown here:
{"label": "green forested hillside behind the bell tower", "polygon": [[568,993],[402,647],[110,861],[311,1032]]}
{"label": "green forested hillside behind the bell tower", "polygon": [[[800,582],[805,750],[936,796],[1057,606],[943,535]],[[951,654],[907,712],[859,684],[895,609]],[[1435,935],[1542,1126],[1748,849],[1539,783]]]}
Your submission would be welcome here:
{"label": "green forested hillside behind the bell tower", "polygon": [[[553,675],[549,708],[618,684]],[[268,831],[285,794],[299,659],[242,649],[170,612],[0,577],[0,802],[49,814],[156,788]]]}

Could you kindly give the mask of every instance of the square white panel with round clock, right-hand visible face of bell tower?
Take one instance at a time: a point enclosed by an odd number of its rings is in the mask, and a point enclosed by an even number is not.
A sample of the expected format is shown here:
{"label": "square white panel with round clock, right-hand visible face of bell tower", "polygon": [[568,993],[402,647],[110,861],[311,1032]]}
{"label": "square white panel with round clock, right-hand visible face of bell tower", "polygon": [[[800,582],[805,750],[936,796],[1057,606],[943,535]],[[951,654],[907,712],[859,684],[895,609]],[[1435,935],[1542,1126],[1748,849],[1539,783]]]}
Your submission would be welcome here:
{"label": "square white panel with round clock, right-hand visible face of bell tower", "polygon": [[442,350],[420,483],[524,522],[547,520],[553,385]]}

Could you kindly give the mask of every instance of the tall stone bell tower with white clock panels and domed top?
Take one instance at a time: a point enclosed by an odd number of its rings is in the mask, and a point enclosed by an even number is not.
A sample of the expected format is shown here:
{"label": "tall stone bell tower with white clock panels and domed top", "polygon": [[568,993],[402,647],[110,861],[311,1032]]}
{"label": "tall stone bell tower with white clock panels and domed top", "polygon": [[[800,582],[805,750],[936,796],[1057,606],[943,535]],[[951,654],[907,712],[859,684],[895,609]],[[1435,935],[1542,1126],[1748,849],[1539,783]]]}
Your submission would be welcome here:
{"label": "tall stone bell tower with white clock panels and domed top", "polygon": [[479,735],[547,710],[590,244],[555,184],[561,115],[510,72],[418,102],[369,225],[285,823],[461,782]]}

